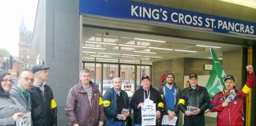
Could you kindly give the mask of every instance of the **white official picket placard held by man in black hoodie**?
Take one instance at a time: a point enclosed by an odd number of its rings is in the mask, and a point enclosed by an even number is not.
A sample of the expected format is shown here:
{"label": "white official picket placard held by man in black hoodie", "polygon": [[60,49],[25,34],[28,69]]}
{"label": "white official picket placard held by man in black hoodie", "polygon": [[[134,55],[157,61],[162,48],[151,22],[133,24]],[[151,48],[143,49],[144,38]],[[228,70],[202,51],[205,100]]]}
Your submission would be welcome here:
{"label": "white official picket placard held by man in black hoodie", "polygon": [[156,125],[156,103],[144,103],[141,108],[141,125]]}

